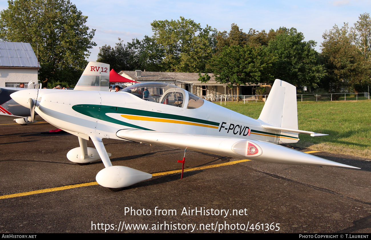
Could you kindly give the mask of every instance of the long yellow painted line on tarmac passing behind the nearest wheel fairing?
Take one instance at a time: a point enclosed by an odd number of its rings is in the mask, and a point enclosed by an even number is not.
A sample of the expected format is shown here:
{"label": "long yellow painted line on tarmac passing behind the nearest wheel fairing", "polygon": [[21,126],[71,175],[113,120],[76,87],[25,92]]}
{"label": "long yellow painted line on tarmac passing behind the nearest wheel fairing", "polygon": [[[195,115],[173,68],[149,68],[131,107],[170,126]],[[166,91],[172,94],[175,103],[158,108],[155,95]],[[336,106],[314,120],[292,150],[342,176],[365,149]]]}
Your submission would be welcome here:
{"label": "long yellow painted line on tarmac passing behind the nearest wheel fairing", "polygon": [[[231,161],[228,163],[221,163],[221,164],[215,164],[215,165],[209,165],[209,166],[204,166],[204,167],[194,167],[190,169],[184,169],[184,171],[193,171],[193,170],[201,170],[201,169],[208,169],[212,167],[221,167],[221,166],[227,166],[227,165],[232,165],[236,163],[241,163],[244,161],[251,161],[251,160],[239,160],[239,161]],[[166,171],[162,173],[154,173],[152,176],[162,176],[162,175],[167,175],[167,174],[173,174],[173,173],[181,173],[182,170],[174,170],[174,171]],[[98,183],[95,182],[90,182],[90,183],[81,183],[81,184],[76,184],[76,185],[68,185],[68,186],[63,186],[63,187],[53,187],[50,189],[42,189],[42,190],[36,190],[36,191],[29,191],[29,192],[24,192],[24,193],[15,193],[15,194],[9,194],[9,195],[3,195],[0,196],[0,199],[7,199],[7,198],[13,198],[13,197],[22,197],[22,196],[27,196],[27,195],[33,195],[33,194],[39,194],[39,193],[49,193],[52,191],[60,191],[60,190],[66,190],[66,189],[72,189],[76,187],[85,187],[85,186],[93,186],[93,185],[98,185]]]}

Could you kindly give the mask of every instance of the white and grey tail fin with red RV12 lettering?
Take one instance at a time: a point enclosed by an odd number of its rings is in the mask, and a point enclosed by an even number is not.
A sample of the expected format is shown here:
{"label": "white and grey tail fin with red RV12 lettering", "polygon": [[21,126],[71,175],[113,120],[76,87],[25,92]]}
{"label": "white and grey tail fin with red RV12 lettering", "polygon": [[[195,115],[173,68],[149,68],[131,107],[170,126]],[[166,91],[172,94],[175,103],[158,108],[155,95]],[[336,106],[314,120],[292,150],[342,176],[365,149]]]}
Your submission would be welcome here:
{"label": "white and grey tail fin with red RV12 lettering", "polygon": [[89,62],[74,90],[108,91],[109,64]]}

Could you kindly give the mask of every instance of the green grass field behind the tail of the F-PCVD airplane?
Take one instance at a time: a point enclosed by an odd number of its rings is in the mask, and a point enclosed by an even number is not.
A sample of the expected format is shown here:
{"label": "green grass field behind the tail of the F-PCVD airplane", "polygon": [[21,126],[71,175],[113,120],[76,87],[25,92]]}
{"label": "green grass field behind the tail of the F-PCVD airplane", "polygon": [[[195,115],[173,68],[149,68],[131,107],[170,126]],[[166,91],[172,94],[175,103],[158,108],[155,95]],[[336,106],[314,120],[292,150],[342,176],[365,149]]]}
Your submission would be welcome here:
{"label": "green grass field behind the tail of the F-PCVD airplane", "polygon": [[[263,106],[259,102],[229,102],[225,107],[257,119]],[[371,100],[298,101],[298,124],[300,130],[329,136],[299,134],[301,140],[294,146],[371,158]]]}

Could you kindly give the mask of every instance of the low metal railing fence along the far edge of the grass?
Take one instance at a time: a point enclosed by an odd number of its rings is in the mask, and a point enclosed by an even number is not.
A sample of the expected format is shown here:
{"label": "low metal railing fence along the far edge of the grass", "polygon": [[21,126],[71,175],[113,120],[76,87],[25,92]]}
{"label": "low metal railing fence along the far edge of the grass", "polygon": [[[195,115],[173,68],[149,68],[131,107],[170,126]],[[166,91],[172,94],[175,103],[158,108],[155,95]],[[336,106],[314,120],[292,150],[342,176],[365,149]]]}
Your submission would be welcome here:
{"label": "low metal railing fence along the far edge of the grass", "polygon": [[[240,101],[248,103],[249,101],[265,101],[269,95],[240,95]],[[212,102],[237,101],[237,95],[208,95],[200,96],[202,99]],[[370,99],[370,93],[324,93],[324,94],[296,94],[298,101],[335,101],[335,100],[366,100]]]}

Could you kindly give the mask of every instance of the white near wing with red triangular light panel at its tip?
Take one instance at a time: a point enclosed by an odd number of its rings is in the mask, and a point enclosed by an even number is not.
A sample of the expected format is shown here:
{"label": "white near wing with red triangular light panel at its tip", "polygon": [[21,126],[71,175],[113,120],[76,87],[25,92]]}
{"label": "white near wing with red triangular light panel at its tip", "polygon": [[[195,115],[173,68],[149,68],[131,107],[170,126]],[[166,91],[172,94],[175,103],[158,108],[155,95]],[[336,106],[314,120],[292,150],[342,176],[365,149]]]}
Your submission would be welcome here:
{"label": "white near wing with red triangular light panel at its tip", "polygon": [[124,140],[139,143],[164,145],[240,159],[249,158],[269,163],[358,168],[259,140],[138,129],[119,130],[116,135]]}

